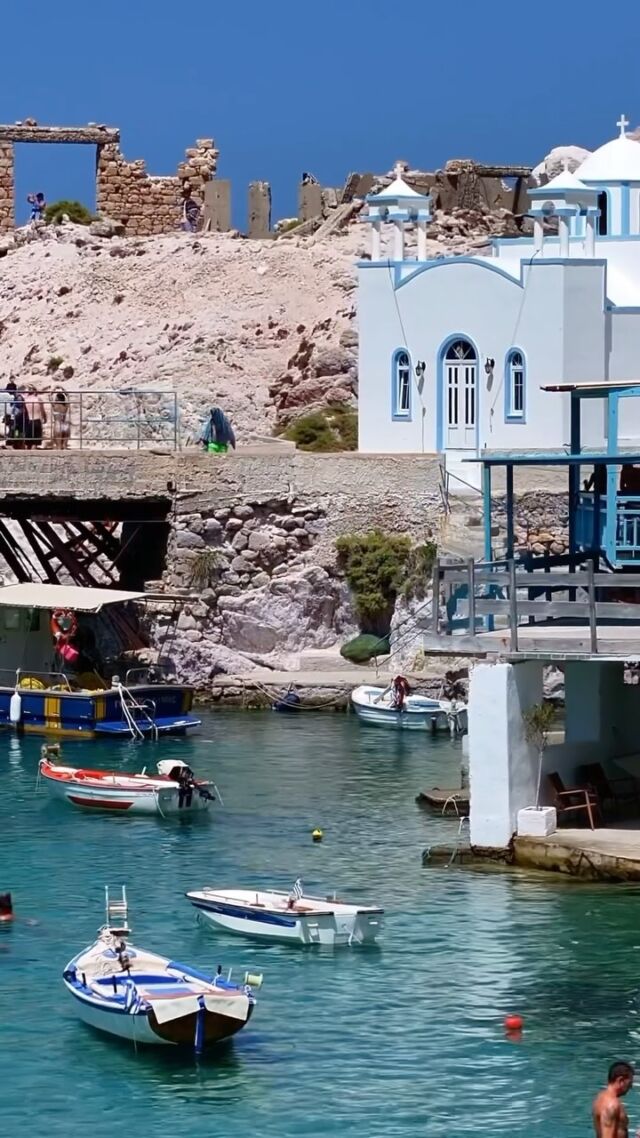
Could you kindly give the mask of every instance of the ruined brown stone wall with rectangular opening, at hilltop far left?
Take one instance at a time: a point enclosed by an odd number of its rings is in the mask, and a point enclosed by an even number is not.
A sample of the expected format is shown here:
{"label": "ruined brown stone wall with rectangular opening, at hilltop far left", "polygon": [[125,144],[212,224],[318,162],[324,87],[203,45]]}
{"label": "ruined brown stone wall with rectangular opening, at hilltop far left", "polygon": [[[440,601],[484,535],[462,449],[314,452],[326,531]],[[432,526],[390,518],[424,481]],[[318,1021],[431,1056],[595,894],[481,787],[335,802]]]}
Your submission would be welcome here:
{"label": "ruined brown stone wall with rectangular opening, at hilltop far left", "polygon": [[26,118],[0,126],[0,234],[10,232],[15,221],[16,142],[59,142],[95,146],[96,201],[98,213],[124,226],[128,237],[148,237],[179,228],[184,201],[202,209],[205,187],[214,176],[219,151],[213,139],[199,139],[187,150],[178,172],[167,178],[147,173],[142,159],[128,162],[120,149],[120,131],[113,126],[40,126]]}

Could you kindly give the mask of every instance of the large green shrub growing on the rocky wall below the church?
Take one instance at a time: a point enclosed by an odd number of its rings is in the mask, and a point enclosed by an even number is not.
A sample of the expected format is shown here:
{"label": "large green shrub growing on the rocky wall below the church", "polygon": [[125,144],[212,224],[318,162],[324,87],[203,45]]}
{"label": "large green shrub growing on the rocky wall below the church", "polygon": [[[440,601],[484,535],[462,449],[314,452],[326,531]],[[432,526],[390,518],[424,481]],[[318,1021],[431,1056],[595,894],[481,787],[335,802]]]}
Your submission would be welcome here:
{"label": "large green shrub growing on the rocky wall below the church", "polygon": [[388,636],[397,593],[407,578],[411,539],[374,529],[338,537],[336,550],[362,632]]}

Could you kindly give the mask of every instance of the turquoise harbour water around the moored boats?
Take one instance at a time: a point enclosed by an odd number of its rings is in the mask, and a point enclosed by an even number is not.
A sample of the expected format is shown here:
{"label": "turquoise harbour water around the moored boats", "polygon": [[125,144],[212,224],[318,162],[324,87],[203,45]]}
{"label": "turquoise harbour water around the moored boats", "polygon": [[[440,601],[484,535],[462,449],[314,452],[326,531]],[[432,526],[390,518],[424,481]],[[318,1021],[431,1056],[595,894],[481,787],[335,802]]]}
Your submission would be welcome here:
{"label": "turquoise harbour water around the moored boats", "polygon": [[[216,712],[199,737],[66,747],[129,769],[184,758],[224,798],[204,824],[50,802],[34,794],[39,749],[6,736],[0,757],[0,888],[39,921],[0,932],[2,1133],[579,1138],[608,1063],[637,1057],[637,891],[421,868],[422,848],[457,830],[413,801],[454,781],[449,741],[342,715]],[[381,948],[256,946],[203,929],[182,898],[298,875],[383,905]],[[75,1020],[60,972],[101,923],[104,884],[121,882],[139,943],[264,973],[222,1052],[134,1055]],[[519,1044],[502,1031],[510,1011],[526,1020]],[[629,1107],[634,1127],[634,1091]]]}

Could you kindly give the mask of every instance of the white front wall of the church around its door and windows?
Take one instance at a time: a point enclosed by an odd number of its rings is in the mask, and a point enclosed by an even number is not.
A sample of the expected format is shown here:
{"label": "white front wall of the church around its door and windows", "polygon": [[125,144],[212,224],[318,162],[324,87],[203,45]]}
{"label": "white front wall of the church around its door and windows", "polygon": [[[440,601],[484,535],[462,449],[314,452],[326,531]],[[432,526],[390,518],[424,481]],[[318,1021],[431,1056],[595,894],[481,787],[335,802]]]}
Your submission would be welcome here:
{"label": "white front wall of the church around its door and windows", "polygon": [[[395,297],[386,266],[361,270],[360,281],[360,450],[407,453],[445,446],[437,417],[444,412],[442,349],[452,336],[467,337],[478,352],[478,445],[512,450],[560,445],[560,417],[551,414],[553,397],[540,391],[549,377],[561,379],[559,266],[545,266],[543,279],[532,275],[525,290],[502,273],[463,258],[422,271],[396,289]],[[397,422],[392,419],[392,356],[402,346],[412,366],[424,360],[427,372],[421,397],[412,380],[411,420]],[[504,363],[514,347],[525,356],[525,414],[522,421],[506,422]],[[487,356],[495,361],[489,378]]]}

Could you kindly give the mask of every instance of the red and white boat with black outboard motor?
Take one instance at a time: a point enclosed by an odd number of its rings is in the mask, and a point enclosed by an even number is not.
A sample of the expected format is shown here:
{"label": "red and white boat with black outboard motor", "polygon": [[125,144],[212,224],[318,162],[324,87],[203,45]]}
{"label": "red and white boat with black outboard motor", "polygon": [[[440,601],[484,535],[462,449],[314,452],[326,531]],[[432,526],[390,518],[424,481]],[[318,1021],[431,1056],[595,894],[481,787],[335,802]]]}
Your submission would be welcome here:
{"label": "red and white boat with black outboard motor", "polygon": [[128,775],[116,770],[88,770],[51,761],[52,748],[44,747],[40,777],[56,798],[82,810],[115,814],[158,814],[186,817],[208,810],[215,798],[211,783],[196,782],[194,773],[179,759],[164,759],[157,774]]}

